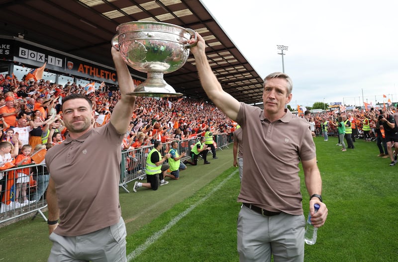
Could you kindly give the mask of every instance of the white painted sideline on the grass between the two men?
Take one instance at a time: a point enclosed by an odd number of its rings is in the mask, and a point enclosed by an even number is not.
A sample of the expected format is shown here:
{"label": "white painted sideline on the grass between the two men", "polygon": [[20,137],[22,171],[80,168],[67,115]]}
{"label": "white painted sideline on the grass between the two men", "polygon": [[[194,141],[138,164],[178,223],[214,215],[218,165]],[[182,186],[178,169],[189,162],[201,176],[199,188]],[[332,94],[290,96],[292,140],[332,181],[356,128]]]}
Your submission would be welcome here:
{"label": "white painted sideline on the grass between the two men", "polygon": [[164,233],[166,233],[172,226],[177,224],[180,219],[188,215],[192,210],[194,210],[199,204],[203,203],[207,198],[210,197],[215,191],[217,191],[222,185],[226,183],[233,175],[235,175],[238,172],[238,170],[234,171],[231,173],[231,175],[228,175],[224,180],[221,181],[216,187],[213,188],[207,195],[202,197],[198,202],[187,208],[185,211],[181,212],[178,214],[175,218],[173,218],[163,229],[159,230],[158,232],[154,233],[152,236],[150,236],[144,244],[138,246],[133,252],[128,254],[127,256],[127,262],[132,261],[139,255],[141,255],[142,252],[144,252],[150,245],[156,242]]}

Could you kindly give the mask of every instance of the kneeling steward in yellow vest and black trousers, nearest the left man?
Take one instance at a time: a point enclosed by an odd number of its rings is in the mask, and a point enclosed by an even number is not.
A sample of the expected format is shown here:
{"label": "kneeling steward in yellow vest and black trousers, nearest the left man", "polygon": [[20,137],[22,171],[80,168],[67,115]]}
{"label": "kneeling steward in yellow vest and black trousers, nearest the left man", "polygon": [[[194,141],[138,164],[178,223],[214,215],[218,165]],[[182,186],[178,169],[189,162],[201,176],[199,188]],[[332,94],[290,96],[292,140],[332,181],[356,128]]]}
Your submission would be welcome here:
{"label": "kneeling steward in yellow vest and black trousers, nearest the left man", "polygon": [[[169,164],[163,164],[167,159],[170,158],[170,154],[166,154],[163,158],[160,154],[160,150],[162,149],[162,142],[156,140],[154,143],[154,148],[149,152],[148,157],[146,158],[146,183],[141,183],[136,181],[134,183],[133,191],[137,192],[137,189],[141,186],[152,188],[152,190],[158,190],[159,185],[168,184],[169,181],[164,179],[164,176],[169,169]],[[163,164],[163,165],[162,165]]]}

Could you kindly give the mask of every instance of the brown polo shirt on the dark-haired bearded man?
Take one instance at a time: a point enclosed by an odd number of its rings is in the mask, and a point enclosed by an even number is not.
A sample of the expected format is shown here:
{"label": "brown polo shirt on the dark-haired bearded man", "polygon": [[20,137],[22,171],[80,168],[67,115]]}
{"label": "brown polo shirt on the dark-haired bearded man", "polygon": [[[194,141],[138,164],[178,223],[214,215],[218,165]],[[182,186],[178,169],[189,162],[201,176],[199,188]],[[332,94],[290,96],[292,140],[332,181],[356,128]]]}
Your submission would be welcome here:
{"label": "brown polo shirt on the dark-haired bearded man", "polygon": [[56,234],[79,236],[119,222],[123,137],[109,122],[48,150],[46,166],[60,209]]}

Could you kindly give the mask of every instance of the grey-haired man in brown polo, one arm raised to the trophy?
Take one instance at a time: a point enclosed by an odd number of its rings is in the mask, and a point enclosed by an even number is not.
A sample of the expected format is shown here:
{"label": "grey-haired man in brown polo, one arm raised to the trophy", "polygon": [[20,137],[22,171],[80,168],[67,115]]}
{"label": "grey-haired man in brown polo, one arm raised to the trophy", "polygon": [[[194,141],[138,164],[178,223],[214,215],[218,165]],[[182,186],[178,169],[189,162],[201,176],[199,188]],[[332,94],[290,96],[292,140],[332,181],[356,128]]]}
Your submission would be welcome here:
{"label": "grey-haired man in brown polo, one arm raised to the trophy", "polygon": [[[242,202],[237,222],[240,261],[300,261],[304,259],[304,225],[298,163],[301,160],[310,195],[311,222],[324,224],[322,180],[308,123],[285,109],[292,99],[292,80],[273,73],[264,80],[264,110],[239,102],[225,92],[207,61],[205,43],[191,48],[201,86],[213,103],[243,131]],[[189,43],[193,44],[194,39]],[[314,213],[314,204],[320,204]]]}

